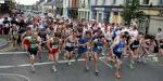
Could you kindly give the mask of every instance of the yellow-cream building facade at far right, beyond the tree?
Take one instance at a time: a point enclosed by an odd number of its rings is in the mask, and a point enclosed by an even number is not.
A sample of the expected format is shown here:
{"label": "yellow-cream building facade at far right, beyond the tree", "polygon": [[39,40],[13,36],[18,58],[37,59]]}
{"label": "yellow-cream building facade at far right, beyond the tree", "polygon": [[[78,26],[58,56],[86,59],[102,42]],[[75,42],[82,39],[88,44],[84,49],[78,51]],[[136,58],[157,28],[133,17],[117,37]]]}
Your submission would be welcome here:
{"label": "yellow-cream building facade at far right, beyond the tree", "polygon": [[142,29],[146,28],[149,35],[155,35],[158,28],[163,29],[163,0],[140,0],[140,11],[148,16],[148,26],[143,25]]}

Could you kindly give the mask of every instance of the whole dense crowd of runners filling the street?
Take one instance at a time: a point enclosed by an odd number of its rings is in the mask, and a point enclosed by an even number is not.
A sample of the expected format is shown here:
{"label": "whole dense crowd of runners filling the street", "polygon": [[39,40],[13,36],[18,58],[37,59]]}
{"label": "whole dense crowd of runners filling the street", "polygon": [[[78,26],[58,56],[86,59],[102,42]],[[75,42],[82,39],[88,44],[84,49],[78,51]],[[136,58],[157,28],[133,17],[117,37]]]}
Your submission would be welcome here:
{"label": "whole dense crowd of runners filling the street", "polygon": [[[146,62],[149,54],[163,55],[163,32],[158,29],[155,37],[145,35],[123,24],[100,23],[96,19],[74,19],[14,16],[4,17],[0,23],[1,35],[10,36],[15,48],[22,48],[30,54],[32,71],[35,71],[35,57],[48,51],[49,59],[53,62],[52,69],[57,71],[59,56],[62,55],[71,66],[73,58],[85,58],[85,70],[89,70],[89,60],[93,60],[95,73],[98,71],[98,58],[104,57],[115,67],[115,77],[121,78],[122,58],[130,59],[130,68],[137,62]],[[39,55],[41,58],[41,56]],[[60,66],[60,65],[58,65]]]}

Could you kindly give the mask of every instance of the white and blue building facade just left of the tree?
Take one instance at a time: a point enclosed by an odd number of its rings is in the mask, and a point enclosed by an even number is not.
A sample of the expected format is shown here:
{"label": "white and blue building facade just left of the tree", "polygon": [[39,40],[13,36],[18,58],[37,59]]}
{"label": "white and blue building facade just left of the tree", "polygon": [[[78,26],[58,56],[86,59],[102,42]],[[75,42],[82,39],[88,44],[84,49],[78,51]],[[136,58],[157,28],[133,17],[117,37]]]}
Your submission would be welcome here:
{"label": "white and blue building facade just left of the tree", "polygon": [[122,23],[121,12],[124,0],[92,0],[91,18],[98,22]]}

